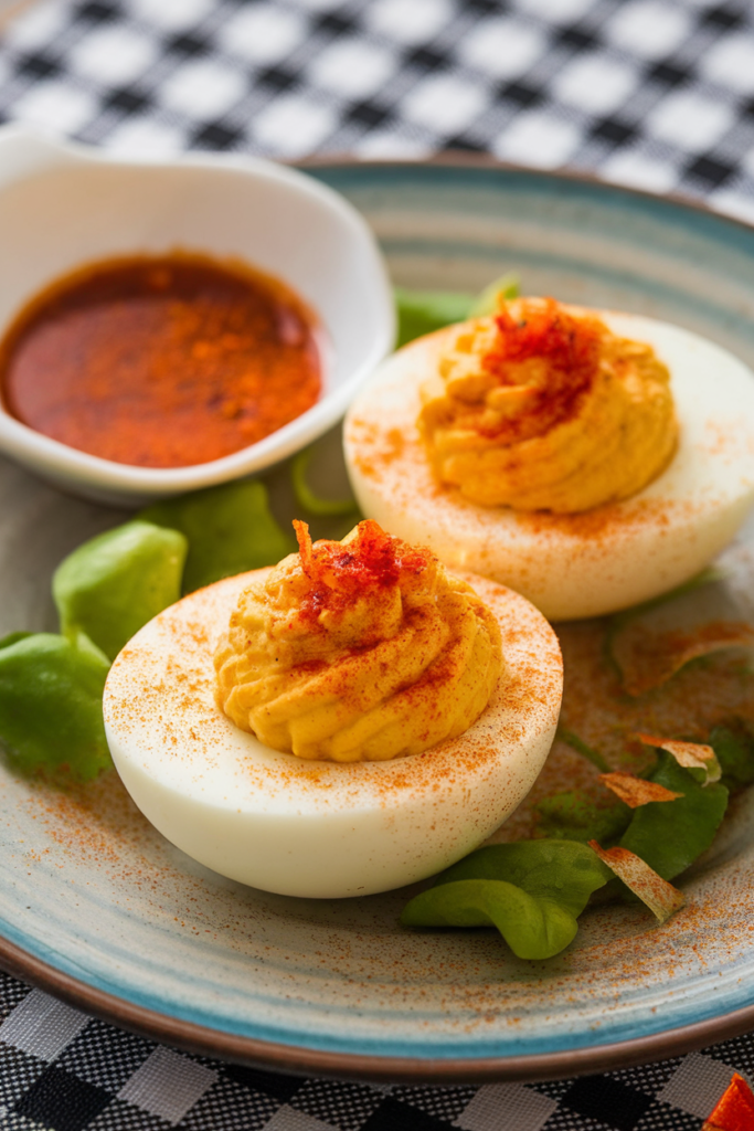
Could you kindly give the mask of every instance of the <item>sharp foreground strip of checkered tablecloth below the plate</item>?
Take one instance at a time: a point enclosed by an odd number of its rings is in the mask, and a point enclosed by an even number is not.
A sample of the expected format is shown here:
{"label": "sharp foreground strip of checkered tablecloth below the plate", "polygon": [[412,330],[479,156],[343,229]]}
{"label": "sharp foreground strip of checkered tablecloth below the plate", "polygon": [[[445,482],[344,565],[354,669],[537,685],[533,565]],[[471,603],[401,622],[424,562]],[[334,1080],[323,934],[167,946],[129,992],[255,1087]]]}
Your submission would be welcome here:
{"label": "sharp foreground strip of checkered tablecloth below the plate", "polygon": [[0,975],[0,1126],[9,1131],[700,1131],[754,1041],[556,1083],[310,1080],[189,1056]]}

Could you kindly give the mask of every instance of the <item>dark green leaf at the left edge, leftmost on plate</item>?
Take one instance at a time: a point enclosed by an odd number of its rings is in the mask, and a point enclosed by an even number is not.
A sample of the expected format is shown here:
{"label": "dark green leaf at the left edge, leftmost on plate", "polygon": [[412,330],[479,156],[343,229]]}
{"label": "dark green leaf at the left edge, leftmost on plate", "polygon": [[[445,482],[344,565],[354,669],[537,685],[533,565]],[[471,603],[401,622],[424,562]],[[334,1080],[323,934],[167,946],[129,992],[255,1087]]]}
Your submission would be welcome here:
{"label": "dark green leaf at the left edge, leftmost on plate", "polygon": [[0,648],[0,745],[14,769],[88,782],[112,765],[102,718],[109,668],[80,633],[37,632]]}

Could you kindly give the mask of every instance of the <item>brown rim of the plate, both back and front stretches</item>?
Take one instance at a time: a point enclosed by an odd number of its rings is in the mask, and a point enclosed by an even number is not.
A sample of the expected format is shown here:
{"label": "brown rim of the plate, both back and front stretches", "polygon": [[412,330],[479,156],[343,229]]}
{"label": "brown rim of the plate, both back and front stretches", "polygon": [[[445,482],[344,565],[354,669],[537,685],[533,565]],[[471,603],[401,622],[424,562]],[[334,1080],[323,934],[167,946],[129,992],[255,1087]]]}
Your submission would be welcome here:
{"label": "brown rim of the plate, both back and front stretches", "polygon": [[[341,156],[332,154],[327,157],[309,157],[296,162],[295,166],[302,169],[343,169],[348,166],[486,169],[538,176],[552,182],[566,181],[606,192],[638,197],[653,205],[676,205],[716,222],[730,224],[746,232],[749,238],[754,234],[754,223],[749,224],[739,217],[718,213],[703,201],[682,193],[658,196],[632,185],[604,181],[595,174],[582,173],[569,167],[540,170],[500,162],[485,154],[447,150],[425,159],[408,161],[402,158],[361,161],[352,154]],[[239,1036],[181,1018],[170,1017],[107,991],[87,985],[1,935],[0,968],[93,1017],[190,1053],[293,1074],[315,1074],[335,1079],[383,1083],[482,1085],[501,1081],[557,1080],[684,1055],[707,1045],[740,1036],[754,1028],[754,1003],[752,1003],[701,1021],[675,1026],[660,1033],[588,1045],[581,1048],[489,1057],[384,1056],[328,1052],[280,1044],[255,1037]]]}

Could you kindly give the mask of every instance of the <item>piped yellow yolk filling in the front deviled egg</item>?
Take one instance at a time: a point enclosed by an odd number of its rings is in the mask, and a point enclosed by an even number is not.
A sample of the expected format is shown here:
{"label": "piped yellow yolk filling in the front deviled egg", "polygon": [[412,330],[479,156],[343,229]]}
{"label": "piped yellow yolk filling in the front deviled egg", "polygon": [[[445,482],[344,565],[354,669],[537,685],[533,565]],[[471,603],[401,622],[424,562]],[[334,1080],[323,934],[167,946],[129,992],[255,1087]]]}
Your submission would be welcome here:
{"label": "piped yellow yolk filling in the front deviled egg", "polygon": [[500,629],[428,550],[359,523],[249,586],[215,654],[217,699],[274,750],[341,762],[462,734],[502,670]]}

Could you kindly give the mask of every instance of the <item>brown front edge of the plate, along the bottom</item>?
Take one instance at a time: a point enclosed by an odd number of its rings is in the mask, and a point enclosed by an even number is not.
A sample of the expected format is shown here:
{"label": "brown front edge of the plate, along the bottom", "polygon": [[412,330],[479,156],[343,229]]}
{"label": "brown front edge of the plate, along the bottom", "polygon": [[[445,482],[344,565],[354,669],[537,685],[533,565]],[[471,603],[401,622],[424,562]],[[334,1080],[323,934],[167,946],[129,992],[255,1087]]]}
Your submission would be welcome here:
{"label": "brown front edge of the plate, along the bottom", "polygon": [[492,1083],[557,1080],[681,1056],[754,1028],[754,1004],[693,1025],[588,1048],[525,1056],[430,1059],[323,1052],[209,1029],[88,986],[0,936],[0,968],[103,1021],[202,1056],[303,1076],[378,1083]]}

